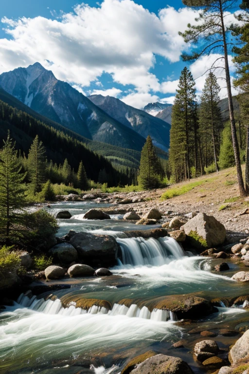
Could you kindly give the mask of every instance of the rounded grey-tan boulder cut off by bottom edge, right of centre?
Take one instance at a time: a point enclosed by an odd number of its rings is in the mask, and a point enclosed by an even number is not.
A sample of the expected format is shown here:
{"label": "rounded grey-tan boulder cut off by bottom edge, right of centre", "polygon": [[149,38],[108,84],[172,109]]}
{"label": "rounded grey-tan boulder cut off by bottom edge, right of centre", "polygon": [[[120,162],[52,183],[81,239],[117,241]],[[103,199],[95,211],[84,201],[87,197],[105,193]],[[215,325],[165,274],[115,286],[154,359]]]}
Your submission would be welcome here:
{"label": "rounded grey-tan boulder cut off by bottom edge, right of centre", "polygon": [[155,355],[147,358],[131,374],[193,374],[188,364],[179,357]]}

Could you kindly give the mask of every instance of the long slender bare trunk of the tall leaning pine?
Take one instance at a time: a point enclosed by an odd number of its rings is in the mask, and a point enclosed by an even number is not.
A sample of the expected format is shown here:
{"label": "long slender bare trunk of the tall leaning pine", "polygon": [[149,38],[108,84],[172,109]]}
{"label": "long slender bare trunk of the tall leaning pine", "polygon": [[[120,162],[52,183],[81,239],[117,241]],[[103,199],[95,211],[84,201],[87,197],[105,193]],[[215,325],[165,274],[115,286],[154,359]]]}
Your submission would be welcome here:
{"label": "long slender bare trunk of the tall leaning pine", "polygon": [[222,0],[219,0],[219,6],[220,6],[220,16],[221,16],[222,34],[223,34],[223,43],[224,43],[225,72],[226,72],[226,80],[227,80],[228,106],[229,106],[229,114],[230,114],[230,122],[231,122],[232,145],[233,145],[233,150],[234,150],[235,165],[237,169],[237,177],[238,177],[240,195],[246,196],[246,190],[244,187],[244,181],[243,181],[242,169],[241,169],[241,163],[240,163],[239,144],[238,144],[238,139],[237,139],[237,134],[236,134],[236,126],[235,126],[235,119],[234,119],[234,113],[233,113],[233,103],[232,103],[232,95],[231,95],[231,79],[230,79],[230,71],[229,71],[229,63],[228,63],[228,50],[227,50],[223,9],[222,9]]}

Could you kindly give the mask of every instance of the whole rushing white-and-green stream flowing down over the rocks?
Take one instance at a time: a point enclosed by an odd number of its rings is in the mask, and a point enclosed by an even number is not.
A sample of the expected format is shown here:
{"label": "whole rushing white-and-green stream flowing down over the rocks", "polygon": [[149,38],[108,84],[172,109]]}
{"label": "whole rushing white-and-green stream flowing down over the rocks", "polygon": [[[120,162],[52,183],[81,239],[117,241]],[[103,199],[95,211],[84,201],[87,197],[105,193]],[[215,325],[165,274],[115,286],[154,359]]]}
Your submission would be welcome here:
{"label": "whole rushing white-and-green stream flowing down over the rocks", "polygon": [[[185,338],[189,341],[188,350],[192,349],[196,337],[188,335],[191,328],[201,326],[202,330],[216,331],[228,325],[243,326],[249,313],[223,305],[186,329],[176,324],[174,313],[158,309],[157,304],[168,295],[195,293],[209,299],[246,295],[247,285],[231,281],[236,265],[225,275],[213,273],[212,260],[184,252],[171,238],[145,240],[125,234],[148,226],[118,219],[84,220],[84,213],[96,206],[101,207],[95,202],[60,203],[50,210],[56,213],[66,209],[74,215],[60,221],[59,235],[74,229],[116,237],[121,251],[117,265],[111,269],[114,275],[75,282],[63,280],[59,282],[70,284],[70,289],[45,292],[38,297],[20,295],[13,306],[0,314],[0,372],[76,374],[85,367],[82,373],[117,374],[126,359],[154,349],[181,356],[195,373],[204,373],[186,350],[174,353],[172,342]],[[106,300],[106,304],[77,306],[77,300],[82,299]],[[223,346],[231,343],[229,338],[220,340]]]}

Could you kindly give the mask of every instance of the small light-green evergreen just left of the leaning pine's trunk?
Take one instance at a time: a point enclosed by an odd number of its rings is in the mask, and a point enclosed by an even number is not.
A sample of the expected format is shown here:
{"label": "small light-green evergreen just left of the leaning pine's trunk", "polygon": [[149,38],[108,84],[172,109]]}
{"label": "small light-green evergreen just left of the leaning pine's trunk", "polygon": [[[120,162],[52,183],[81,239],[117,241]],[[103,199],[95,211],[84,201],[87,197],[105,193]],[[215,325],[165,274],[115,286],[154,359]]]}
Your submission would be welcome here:
{"label": "small light-green evergreen just left of the leaning pine's trunk", "polygon": [[219,167],[230,168],[235,165],[234,151],[231,142],[231,126],[226,124],[222,131],[222,142],[220,146]]}

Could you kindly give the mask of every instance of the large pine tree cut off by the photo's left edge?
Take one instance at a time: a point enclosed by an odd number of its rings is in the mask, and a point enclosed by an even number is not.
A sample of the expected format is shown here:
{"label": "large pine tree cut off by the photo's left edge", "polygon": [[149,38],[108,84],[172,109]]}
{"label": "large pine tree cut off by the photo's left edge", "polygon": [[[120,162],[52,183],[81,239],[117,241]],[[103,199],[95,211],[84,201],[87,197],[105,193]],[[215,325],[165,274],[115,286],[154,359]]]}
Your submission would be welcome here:
{"label": "large pine tree cut off by the photo's left edge", "polygon": [[22,187],[25,174],[8,131],[0,151],[0,241],[10,243],[20,222],[18,211],[24,205]]}

